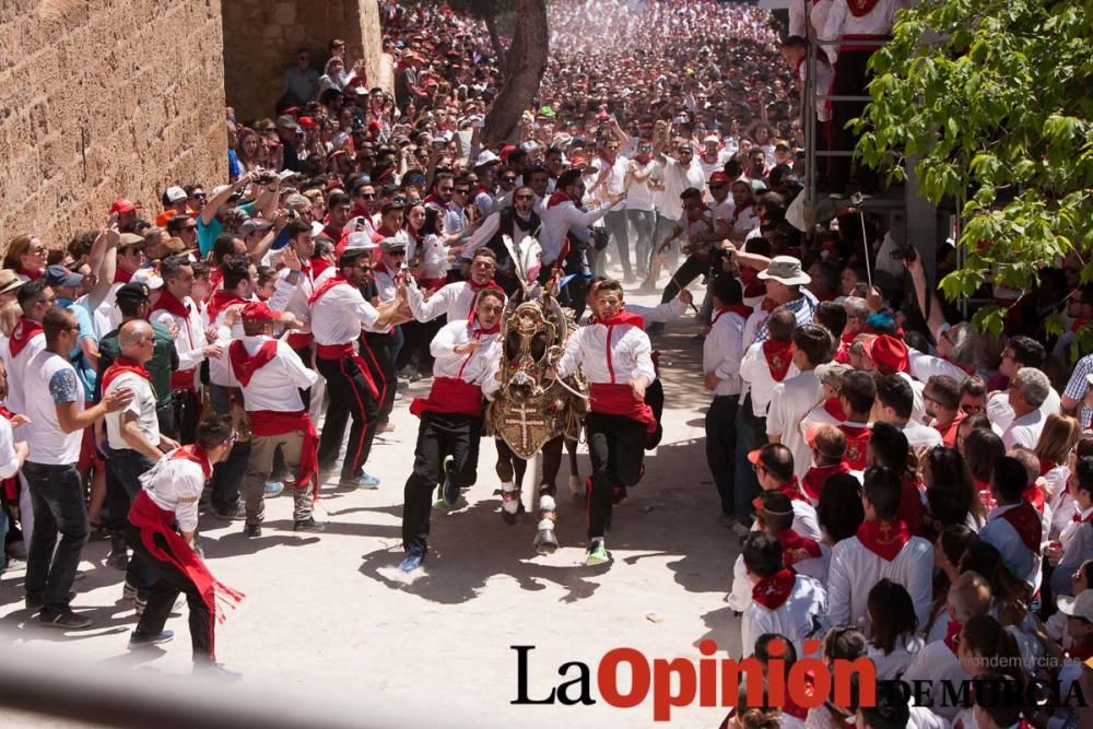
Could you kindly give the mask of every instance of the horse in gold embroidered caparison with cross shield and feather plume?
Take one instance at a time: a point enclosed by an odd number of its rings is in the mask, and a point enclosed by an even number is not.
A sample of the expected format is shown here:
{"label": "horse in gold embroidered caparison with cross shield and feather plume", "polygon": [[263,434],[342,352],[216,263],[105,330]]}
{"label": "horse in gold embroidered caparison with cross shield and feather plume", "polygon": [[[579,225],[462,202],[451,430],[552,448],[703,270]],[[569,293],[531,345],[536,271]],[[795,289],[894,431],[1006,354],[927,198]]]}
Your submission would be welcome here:
{"label": "horse in gold embroidered caparison with cross shield and feather plume", "polygon": [[[525,239],[520,250],[513,251],[521,281],[534,281],[533,270],[526,264],[533,248],[538,248],[538,243]],[[509,524],[515,524],[524,512],[520,494],[527,463],[536,454],[542,454],[534,538],[540,554],[557,549],[555,496],[563,445],[569,446],[571,487],[579,483],[576,444],[587,410],[588,387],[579,374],[565,380],[546,376],[561,358],[575,328],[572,313],[562,308],[548,290],[539,285],[521,286],[509,299],[502,321],[501,389],[486,409],[486,433],[494,435],[497,443],[502,516]]]}

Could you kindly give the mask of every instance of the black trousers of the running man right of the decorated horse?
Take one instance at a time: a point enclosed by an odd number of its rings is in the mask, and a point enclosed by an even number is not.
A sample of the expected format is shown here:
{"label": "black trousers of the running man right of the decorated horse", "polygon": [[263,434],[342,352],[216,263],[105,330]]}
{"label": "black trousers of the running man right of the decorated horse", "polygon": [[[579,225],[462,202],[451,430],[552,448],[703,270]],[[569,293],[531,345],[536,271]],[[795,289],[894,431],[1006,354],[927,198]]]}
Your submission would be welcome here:
{"label": "black trousers of the running man right of the decorated horse", "polygon": [[603,537],[611,522],[614,484],[633,486],[642,480],[645,424],[625,415],[588,413],[588,454],[592,460],[588,490],[588,538]]}

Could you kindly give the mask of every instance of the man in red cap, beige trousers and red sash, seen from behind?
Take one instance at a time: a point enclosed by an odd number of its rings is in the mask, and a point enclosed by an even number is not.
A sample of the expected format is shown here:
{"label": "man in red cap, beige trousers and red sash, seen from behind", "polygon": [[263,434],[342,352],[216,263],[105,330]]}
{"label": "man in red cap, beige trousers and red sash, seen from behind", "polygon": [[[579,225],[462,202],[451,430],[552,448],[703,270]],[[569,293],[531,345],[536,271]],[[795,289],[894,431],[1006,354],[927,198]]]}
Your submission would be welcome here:
{"label": "man in red cap, beige trousers and red sash, seen from behind", "polygon": [[318,376],[287,342],[273,339],[279,315],[265,302],[248,302],[242,314],[244,336],[228,345],[227,360],[232,384],[243,390],[250,420],[250,456],[243,490],[247,514],[244,533],[261,536],[266,480],[273,472],[278,448],[293,474],[293,531],[322,531],[324,525],[313,516],[319,485],[318,434],[299,395]]}

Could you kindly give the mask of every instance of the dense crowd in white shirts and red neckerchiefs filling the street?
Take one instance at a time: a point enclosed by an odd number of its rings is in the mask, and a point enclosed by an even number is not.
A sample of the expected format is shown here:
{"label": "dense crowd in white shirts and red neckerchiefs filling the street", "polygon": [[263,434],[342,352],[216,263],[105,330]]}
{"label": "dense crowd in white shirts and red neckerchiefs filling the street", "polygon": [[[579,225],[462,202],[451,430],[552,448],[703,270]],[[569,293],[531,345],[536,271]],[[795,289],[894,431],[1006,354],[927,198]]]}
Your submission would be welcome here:
{"label": "dense crowd in white shirts and red neckerchiefs filling the street", "polygon": [[[883,37],[898,4],[795,2],[779,40],[749,5],[553,2],[534,105],[512,139],[483,144],[505,78],[485,25],[381,2],[393,93],[340,39],[325,59],[299,50],[275,114],[230,110],[225,179],[174,180],[155,210],[119,197],[67,245],[10,240],[0,531],[10,521],[7,554],[27,560],[27,607],[86,627],[70,590],[99,534],[139,616],[130,647],[171,637],[181,592],[198,665],[223,671],[218,600],[239,596],[200,558],[199,513],[255,537],[263,499],[284,491],[294,529],[322,531],[320,481],[379,487],[365,470],[373,440],[393,427],[399,390],[424,378],[400,564],[420,569],[433,493],[453,504],[475,480],[505,303],[538,281],[583,322],[550,376],[579,371],[591,387],[588,565],[611,558],[612,508],[643,452],[672,437],[653,345],[691,305],[702,371],[668,376],[710,393],[720,509],[708,528],[741,544],[727,599],[745,651],[763,657],[781,636],[804,657],[822,638],[826,662],[865,656],[878,679],[920,680],[936,698],[972,679],[1057,681],[1070,698],[1089,687],[1093,355],[1074,332],[1093,318],[1093,285],[1081,259],[1046,261],[1029,292],[982,292],[1008,308],[994,337],[938,296],[951,244],[926,270],[933,243],[901,244],[883,220],[802,222],[800,24],[830,42],[837,86],[846,59],[868,56],[846,36]],[[529,271],[512,244],[532,239]],[[635,290],[662,292],[661,305],[627,304]],[[1056,313],[1061,337],[1045,329]],[[509,515],[517,490],[503,484]],[[1078,726],[1073,701],[965,698],[884,693],[859,721]],[[726,721],[853,716],[742,702]]]}

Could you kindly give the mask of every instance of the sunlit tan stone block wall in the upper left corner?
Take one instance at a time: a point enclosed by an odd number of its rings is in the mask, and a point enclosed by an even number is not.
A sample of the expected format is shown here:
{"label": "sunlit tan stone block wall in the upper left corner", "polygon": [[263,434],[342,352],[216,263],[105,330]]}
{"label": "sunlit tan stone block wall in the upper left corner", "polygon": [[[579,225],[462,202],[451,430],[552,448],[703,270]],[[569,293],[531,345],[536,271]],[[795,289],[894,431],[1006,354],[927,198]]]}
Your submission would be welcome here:
{"label": "sunlit tan stone block wall in the upper left corner", "polygon": [[124,195],[226,181],[221,0],[4,0],[0,247],[97,227]]}

